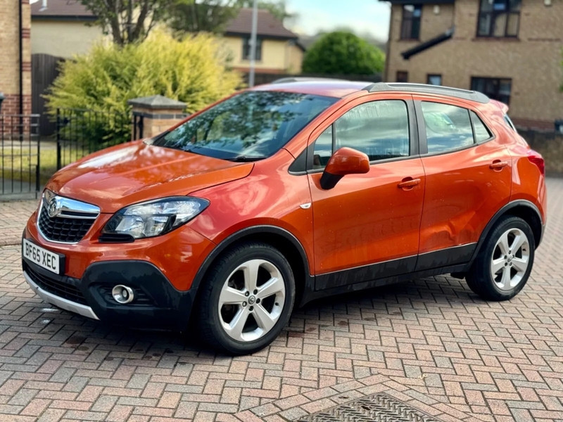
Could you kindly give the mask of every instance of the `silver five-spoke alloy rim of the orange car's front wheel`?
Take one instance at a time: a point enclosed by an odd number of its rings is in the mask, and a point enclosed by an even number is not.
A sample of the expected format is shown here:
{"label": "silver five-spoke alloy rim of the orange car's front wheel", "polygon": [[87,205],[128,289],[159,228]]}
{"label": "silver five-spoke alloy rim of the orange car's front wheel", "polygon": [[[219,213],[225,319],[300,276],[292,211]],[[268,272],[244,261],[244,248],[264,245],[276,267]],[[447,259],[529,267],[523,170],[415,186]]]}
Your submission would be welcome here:
{"label": "silver five-spoke alloy rim of the orange car's front wheel", "polygon": [[219,318],[230,338],[251,342],[272,330],[286,300],[281,271],[265,260],[240,264],[224,282]]}

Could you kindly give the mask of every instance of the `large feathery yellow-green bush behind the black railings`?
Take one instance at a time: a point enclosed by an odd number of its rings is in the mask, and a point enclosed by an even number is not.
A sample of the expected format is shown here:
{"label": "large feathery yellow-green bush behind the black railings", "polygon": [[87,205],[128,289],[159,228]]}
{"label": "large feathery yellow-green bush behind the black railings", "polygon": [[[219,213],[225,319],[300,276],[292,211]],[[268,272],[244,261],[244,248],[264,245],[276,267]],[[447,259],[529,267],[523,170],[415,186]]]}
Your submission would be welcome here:
{"label": "large feathery yellow-green bush behind the black railings", "polygon": [[141,44],[97,44],[88,54],[61,65],[46,95],[47,108],[51,115],[57,108],[90,110],[80,112],[85,141],[102,148],[116,132],[123,140],[130,134],[119,133],[124,132],[118,127],[121,119],[100,122],[92,117],[94,112],[127,115],[128,100],[160,94],[183,101],[186,111],[193,113],[241,84],[239,73],[227,67],[227,57],[220,41],[208,34],[175,39],[155,31]]}

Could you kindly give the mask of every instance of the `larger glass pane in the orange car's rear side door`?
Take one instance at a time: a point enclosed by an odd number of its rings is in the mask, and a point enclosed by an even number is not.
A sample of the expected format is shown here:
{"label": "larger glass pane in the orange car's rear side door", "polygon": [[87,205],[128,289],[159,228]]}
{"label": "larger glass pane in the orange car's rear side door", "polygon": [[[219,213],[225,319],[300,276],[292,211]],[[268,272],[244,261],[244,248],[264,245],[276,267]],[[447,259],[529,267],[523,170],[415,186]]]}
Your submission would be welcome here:
{"label": "larger glass pane in the orange car's rear side door", "polygon": [[429,153],[445,153],[474,143],[467,108],[426,101],[421,107]]}

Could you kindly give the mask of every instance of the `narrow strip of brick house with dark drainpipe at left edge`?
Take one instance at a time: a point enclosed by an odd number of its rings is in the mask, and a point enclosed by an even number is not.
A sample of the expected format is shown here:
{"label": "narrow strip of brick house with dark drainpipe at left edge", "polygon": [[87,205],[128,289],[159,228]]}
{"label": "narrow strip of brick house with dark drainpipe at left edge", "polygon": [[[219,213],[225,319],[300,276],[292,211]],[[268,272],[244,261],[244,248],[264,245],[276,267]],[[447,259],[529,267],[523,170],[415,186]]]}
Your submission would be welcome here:
{"label": "narrow strip of brick house with dark drainpipe at left edge", "polygon": [[29,0],[0,0],[0,93],[2,114],[31,113]]}

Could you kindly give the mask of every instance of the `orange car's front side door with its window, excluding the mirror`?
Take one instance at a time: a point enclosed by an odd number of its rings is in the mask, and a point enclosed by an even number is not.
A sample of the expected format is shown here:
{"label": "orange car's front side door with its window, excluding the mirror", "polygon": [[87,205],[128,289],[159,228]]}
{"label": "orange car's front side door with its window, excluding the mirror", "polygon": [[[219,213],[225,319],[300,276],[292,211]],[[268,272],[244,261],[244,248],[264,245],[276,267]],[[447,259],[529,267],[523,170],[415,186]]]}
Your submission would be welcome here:
{"label": "orange car's front side door with its window, excluding the mirror", "polygon": [[[316,290],[405,274],[417,261],[425,183],[412,96],[358,98],[338,115],[308,148]],[[368,155],[369,172],[324,190],[323,169],[344,146]]]}

